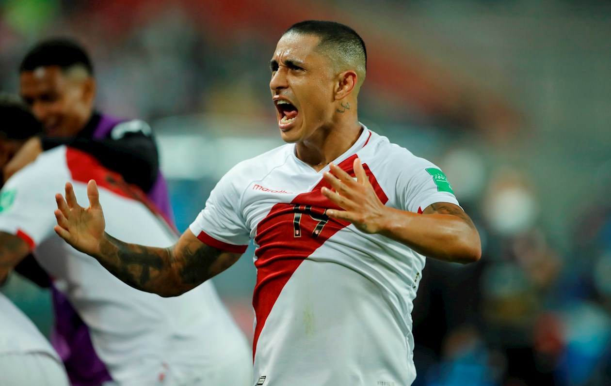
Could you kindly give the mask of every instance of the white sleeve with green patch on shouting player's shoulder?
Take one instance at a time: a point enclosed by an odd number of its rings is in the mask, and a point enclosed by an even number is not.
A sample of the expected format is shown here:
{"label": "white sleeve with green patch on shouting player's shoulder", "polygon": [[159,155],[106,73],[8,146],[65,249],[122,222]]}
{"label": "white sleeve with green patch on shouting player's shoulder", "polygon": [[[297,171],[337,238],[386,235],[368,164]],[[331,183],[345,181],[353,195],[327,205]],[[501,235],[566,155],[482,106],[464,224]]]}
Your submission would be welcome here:
{"label": "white sleeve with green patch on shouting player's shoulder", "polygon": [[422,213],[435,202],[459,205],[444,172],[424,159],[418,159],[410,168],[401,171],[397,186],[404,209],[409,212]]}

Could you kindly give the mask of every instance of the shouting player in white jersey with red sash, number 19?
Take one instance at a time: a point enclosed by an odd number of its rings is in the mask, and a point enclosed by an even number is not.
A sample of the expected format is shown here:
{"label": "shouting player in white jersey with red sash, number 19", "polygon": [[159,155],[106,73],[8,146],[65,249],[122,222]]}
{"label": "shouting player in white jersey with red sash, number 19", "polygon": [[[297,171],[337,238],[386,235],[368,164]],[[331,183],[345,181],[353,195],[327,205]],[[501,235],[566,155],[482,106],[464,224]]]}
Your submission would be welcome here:
{"label": "shouting player in white jersey with red sash, number 19", "polygon": [[353,29],[297,23],[270,66],[288,144],[225,174],[177,243],[106,233],[95,181],[87,209],[70,184],[65,199],[56,195],[55,230],[122,281],[162,296],[221,273],[254,239],[254,384],[409,385],[425,257],[478,260],[477,229],[437,166],[359,123],[366,54]]}

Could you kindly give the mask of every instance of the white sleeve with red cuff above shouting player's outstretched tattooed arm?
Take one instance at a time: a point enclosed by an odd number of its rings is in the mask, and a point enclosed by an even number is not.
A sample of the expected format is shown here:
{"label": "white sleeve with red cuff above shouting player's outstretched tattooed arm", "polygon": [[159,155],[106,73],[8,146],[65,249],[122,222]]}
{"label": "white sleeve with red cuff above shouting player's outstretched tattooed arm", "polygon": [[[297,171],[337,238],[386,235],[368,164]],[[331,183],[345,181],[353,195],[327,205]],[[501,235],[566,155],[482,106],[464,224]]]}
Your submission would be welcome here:
{"label": "white sleeve with red cuff above shouting player's outstretched tattooed arm", "polygon": [[236,253],[244,253],[251,240],[240,209],[243,191],[238,186],[240,180],[246,178],[240,178],[234,170],[225,174],[211,191],[205,208],[189,226],[203,243]]}

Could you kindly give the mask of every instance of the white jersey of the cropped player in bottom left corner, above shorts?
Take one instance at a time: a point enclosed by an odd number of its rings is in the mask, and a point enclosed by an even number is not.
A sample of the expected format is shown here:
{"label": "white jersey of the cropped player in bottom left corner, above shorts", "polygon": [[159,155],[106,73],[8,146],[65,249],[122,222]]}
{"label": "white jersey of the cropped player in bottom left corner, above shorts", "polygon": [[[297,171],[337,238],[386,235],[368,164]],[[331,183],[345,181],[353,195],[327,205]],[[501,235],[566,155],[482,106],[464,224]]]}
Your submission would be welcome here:
{"label": "white jersey of the cropped player in bottom left corner, above shorts", "polygon": [[29,318],[0,293],[0,355],[43,352],[57,359],[55,350]]}

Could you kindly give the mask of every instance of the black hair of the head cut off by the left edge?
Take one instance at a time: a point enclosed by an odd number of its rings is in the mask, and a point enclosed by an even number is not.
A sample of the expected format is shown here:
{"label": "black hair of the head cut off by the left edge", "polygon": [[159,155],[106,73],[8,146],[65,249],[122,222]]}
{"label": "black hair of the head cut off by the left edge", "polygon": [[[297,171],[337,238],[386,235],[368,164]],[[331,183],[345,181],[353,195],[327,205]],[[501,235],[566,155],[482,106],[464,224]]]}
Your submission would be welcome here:
{"label": "black hair of the head cut off by the left edge", "polygon": [[0,138],[27,140],[42,132],[42,123],[32,115],[23,99],[0,93]]}

